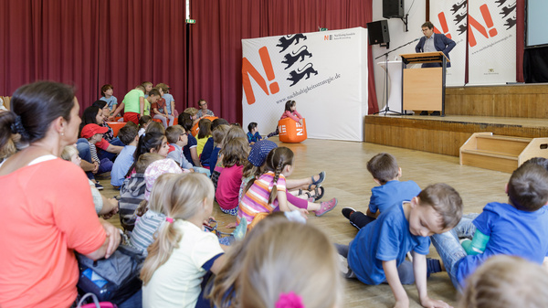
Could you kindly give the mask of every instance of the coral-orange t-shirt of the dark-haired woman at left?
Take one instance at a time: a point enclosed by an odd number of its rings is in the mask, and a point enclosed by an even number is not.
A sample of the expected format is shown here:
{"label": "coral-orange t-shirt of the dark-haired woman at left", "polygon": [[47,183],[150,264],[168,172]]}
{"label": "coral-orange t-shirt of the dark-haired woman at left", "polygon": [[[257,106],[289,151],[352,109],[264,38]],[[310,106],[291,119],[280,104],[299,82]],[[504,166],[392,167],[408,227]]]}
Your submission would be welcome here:
{"label": "coral-orange t-shirt of the dark-haired woman at left", "polygon": [[68,307],[77,295],[74,250],[106,239],[86,175],[59,158],[0,176],[0,307]]}

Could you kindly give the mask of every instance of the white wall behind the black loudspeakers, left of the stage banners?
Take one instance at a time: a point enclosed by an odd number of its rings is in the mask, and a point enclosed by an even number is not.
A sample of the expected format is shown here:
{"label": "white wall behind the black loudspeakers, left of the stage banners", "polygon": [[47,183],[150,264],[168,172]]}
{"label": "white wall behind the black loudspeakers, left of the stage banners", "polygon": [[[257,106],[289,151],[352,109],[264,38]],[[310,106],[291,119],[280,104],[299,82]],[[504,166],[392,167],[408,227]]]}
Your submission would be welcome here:
{"label": "white wall behind the black loudspeakers, left of the stage banners", "polygon": [[[373,46],[373,58],[384,54],[386,51],[394,50],[401,45],[406,44],[409,41],[412,41],[418,37],[422,37],[422,30],[420,26],[426,21],[426,1],[425,0],[415,0],[415,4],[409,10],[409,7],[413,3],[413,0],[404,0],[405,1],[405,12],[409,14],[407,19],[407,29],[408,32],[405,32],[404,22],[398,18],[388,19],[388,32],[390,33],[390,48],[381,48],[378,45]],[[376,0],[373,2],[373,21],[383,20],[383,1]],[[399,48],[395,52],[391,53],[388,56],[388,60],[394,60],[399,57],[400,54],[414,53],[415,46],[417,42],[407,45],[404,48]],[[385,106],[385,70],[382,69],[378,62],[384,61],[385,57],[374,59],[374,67],[369,69],[374,69],[374,84],[377,94],[377,101],[379,103],[379,110]],[[388,81],[390,83],[390,81]],[[393,106],[391,106],[391,109]]]}

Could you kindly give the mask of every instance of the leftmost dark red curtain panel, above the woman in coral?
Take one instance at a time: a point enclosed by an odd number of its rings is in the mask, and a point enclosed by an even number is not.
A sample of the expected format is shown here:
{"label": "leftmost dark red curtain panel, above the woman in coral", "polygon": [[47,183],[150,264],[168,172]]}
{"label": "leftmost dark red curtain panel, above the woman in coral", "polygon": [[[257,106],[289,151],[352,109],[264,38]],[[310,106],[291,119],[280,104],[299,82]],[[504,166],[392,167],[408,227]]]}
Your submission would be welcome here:
{"label": "leftmost dark red curtain panel, above the woman in coral", "polygon": [[90,104],[97,89],[97,3],[3,1],[0,12],[0,92],[11,95],[28,82],[55,80],[74,85],[80,104]]}

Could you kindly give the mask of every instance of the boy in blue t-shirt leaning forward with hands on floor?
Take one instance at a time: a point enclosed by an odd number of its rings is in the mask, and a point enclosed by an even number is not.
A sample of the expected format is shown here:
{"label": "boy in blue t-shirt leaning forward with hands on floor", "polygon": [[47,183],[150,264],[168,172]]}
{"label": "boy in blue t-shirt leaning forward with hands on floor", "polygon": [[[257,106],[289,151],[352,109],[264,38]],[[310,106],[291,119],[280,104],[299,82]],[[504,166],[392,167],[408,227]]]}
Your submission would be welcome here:
{"label": "boy in blue t-shirt leaning forward with hands on floor", "polygon": [[[413,282],[423,306],[445,304],[427,295],[427,275],[441,271],[437,260],[427,262],[428,237],[455,227],[461,216],[462,200],[455,189],[447,184],[427,186],[411,201],[388,208],[362,228],[348,248],[338,247],[348,261],[345,276],[372,285],[388,282],[394,292],[395,306],[409,306],[402,283]],[[410,250],[413,263],[405,260]]]}

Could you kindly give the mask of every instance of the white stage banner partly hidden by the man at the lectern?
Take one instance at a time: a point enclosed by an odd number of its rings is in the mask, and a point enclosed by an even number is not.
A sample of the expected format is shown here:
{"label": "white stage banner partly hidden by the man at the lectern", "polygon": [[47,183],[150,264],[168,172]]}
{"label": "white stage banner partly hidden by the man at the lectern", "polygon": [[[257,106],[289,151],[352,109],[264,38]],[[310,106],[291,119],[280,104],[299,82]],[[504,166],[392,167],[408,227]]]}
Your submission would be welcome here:
{"label": "white stage banner partly hidden by the man at the lectern", "polygon": [[466,69],[467,0],[430,1],[434,32],[442,33],[457,44],[449,52],[451,67],[447,70],[447,86],[464,85]]}

